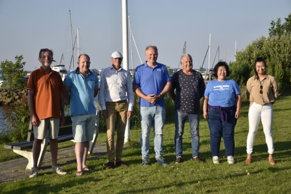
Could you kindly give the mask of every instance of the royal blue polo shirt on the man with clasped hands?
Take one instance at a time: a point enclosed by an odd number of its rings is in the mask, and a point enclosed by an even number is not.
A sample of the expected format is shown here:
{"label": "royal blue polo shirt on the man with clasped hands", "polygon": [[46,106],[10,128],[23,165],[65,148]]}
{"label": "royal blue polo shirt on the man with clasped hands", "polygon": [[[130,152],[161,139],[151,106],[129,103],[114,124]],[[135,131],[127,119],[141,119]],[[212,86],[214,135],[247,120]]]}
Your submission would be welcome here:
{"label": "royal blue polo shirt on the man with clasped hands", "polygon": [[[171,81],[171,78],[168,74],[166,65],[157,63],[154,68],[151,68],[144,63],[135,68],[132,84],[138,85],[140,90],[147,96],[149,94],[159,95],[168,81]],[[140,98],[140,106],[164,106],[164,97],[156,104]]]}

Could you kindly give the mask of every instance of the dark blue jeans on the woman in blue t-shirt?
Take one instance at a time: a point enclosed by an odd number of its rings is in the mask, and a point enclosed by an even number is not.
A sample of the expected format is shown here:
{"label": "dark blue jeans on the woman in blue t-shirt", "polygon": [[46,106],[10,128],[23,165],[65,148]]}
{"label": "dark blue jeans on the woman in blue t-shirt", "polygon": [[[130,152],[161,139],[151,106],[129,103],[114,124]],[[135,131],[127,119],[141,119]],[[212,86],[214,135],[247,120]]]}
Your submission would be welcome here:
{"label": "dark blue jeans on the woman in blue t-shirt", "polygon": [[220,156],[219,148],[223,137],[226,156],[234,156],[234,127],[237,119],[235,112],[227,111],[227,121],[221,121],[221,112],[217,109],[208,109],[208,126],[210,130],[210,149],[212,156]]}

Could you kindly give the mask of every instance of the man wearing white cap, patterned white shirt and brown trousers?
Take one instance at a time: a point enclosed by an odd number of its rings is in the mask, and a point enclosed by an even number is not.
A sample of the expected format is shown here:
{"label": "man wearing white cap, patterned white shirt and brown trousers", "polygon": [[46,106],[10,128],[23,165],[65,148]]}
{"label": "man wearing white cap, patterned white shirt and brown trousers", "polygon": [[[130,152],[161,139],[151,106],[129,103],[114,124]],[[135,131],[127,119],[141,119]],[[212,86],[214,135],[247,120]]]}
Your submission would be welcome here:
{"label": "man wearing white cap, patterned white shirt and brown trousers", "polygon": [[[129,71],[121,67],[123,56],[114,51],[111,55],[112,65],[101,71],[98,100],[107,127],[106,169],[126,167],[121,161],[124,145],[124,133],[127,119],[130,118],[134,105],[133,90]],[[116,148],[114,131],[116,123]]]}

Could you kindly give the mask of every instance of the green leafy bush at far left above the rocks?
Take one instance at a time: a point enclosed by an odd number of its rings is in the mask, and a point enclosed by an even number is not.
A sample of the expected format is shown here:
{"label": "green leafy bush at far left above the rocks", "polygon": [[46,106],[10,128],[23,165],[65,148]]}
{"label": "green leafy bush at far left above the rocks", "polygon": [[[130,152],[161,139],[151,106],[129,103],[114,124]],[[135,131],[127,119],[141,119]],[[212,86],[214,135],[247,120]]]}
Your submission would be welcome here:
{"label": "green leafy bush at far left above the rocks", "polygon": [[0,68],[2,69],[4,79],[2,88],[25,89],[26,80],[24,76],[27,72],[23,69],[25,62],[21,62],[22,59],[23,55],[20,55],[15,57],[15,64],[12,61],[7,61],[7,59],[1,62]]}

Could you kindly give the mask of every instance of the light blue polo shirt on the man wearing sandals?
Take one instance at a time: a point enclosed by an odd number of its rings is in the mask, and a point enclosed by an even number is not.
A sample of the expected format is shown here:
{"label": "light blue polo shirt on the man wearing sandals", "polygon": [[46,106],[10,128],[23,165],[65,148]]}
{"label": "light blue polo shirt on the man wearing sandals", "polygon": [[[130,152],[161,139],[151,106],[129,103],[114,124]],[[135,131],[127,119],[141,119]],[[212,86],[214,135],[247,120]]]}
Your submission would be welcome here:
{"label": "light blue polo shirt on the man wearing sandals", "polygon": [[98,87],[98,77],[94,72],[89,70],[89,75],[84,78],[78,67],[66,75],[64,85],[70,88],[71,116],[96,113],[94,91]]}

